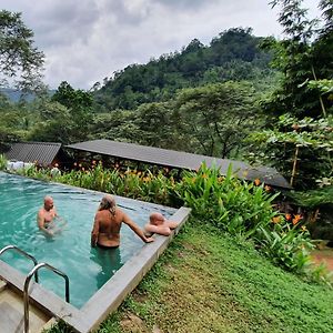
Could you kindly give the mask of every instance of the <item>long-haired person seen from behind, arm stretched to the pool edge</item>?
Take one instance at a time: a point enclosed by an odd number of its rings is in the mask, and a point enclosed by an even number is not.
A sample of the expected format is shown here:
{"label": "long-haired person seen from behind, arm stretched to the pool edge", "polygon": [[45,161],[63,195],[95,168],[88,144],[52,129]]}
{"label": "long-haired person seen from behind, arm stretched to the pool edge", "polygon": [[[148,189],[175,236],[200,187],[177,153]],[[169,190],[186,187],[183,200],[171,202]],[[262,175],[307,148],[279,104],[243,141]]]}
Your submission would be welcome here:
{"label": "long-haired person seen from behind, arm stretched to the pool edge", "polygon": [[102,249],[118,248],[122,223],[129,225],[144,243],[154,241],[152,238],[147,238],[129,215],[117,206],[112,195],[107,194],[102,198],[98,212],[94,215],[91,231],[91,246]]}

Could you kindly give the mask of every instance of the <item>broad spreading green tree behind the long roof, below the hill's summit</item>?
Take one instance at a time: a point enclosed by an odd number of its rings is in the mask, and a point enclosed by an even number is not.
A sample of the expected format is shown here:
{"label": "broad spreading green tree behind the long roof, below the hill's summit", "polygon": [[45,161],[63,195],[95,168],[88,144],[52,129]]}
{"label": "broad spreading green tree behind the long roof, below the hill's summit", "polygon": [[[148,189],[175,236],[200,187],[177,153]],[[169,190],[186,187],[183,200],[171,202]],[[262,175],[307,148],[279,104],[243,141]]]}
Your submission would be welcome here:
{"label": "broad spreading green tree behind the long roof, below the hill's summit", "polygon": [[244,82],[182,90],[174,112],[186,150],[222,159],[238,155],[243,139],[260,127],[254,100]]}

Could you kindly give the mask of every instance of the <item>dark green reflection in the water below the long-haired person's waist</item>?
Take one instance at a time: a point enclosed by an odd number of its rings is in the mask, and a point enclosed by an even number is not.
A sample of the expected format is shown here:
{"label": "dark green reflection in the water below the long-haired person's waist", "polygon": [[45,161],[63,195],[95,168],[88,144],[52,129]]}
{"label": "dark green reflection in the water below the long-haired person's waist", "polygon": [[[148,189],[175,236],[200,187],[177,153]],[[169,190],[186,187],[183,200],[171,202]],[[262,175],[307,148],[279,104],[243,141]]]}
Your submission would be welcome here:
{"label": "dark green reflection in the water below the long-haired person's waist", "polygon": [[119,248],[91,248],[90,259],[100,268],[95,276],[98,289],[100,289],[123,265]]}

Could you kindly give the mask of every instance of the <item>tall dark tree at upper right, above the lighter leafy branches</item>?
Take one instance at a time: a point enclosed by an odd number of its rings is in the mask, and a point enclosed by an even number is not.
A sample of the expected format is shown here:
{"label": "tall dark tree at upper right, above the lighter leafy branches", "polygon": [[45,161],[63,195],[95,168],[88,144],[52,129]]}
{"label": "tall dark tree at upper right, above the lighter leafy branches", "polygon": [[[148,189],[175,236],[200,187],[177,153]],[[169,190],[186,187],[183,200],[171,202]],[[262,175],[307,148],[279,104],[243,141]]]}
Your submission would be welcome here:
{"label": "tall dark tree at upper right, above the lighter leafy branches", "polygon": [[[319,92],[309,89],[304,82],[333,75],[332,23],[327,22],[321,30],[315,29],[317,20],[307,19],[307,10],[302,8],[301,0],[274,0],[271,3],[273,7],[281,6],[279,22],[286,38],[282,41],[266,39],[262,46],[273,50],[273,65],[284,77],[281,87],[263,107],[278,115],[291,112],[299,118],[320,117],[322,105]],[[321,4],[325,9],[324,18],[329,20],[332,1],[324,0]],[[329,99],[323,99],[322,103],[325,108],[332,105]]]}

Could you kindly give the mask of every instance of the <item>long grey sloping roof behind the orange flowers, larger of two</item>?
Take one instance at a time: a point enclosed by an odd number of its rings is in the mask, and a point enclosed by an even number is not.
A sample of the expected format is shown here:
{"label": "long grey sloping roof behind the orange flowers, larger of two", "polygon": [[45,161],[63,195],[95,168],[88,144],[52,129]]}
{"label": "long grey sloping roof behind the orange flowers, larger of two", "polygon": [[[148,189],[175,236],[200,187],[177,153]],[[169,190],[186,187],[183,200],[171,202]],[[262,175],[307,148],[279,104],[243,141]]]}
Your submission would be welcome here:
{"label": "long grey sloping roof behind the orange flowers, larger of two", "polygon": [[269,185],[291,189],[287,181],[274,169],[266,167],[250,167],[244,162],[211,158],[206,155],[192,154],[188,152],[167,150],[133,143],[117,142],[111,140],[92,140],[67,145],[65,148],[121,158],[131,161],[139,161],[149,164],[157,164],[168,168],[198,170],[205,162],[208,167],[220,168],[221,174],[225,175],[229,165],[239,178],[245,180],[260,179]]}

